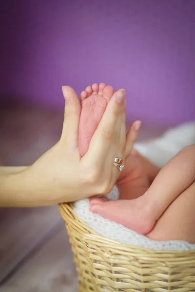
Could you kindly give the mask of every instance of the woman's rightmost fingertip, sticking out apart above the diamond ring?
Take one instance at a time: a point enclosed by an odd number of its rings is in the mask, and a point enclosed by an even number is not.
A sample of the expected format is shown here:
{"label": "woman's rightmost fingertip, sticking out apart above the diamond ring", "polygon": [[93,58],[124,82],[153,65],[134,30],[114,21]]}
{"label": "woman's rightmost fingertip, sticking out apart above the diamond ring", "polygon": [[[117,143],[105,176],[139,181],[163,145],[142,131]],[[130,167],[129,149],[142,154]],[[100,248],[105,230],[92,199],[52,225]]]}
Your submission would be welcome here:
{"label": "woman's rightmost fingertip, sticking out apart above the diamond ring", "polygon": [[129,130],[127,132],[124,160],[127,159],[127,157],[130,155],[130,153],[134,147],[134,144],[136,142],[140,127],[141,127],[141,121],[135,121],[131,125],[131,127],[129,128]]}

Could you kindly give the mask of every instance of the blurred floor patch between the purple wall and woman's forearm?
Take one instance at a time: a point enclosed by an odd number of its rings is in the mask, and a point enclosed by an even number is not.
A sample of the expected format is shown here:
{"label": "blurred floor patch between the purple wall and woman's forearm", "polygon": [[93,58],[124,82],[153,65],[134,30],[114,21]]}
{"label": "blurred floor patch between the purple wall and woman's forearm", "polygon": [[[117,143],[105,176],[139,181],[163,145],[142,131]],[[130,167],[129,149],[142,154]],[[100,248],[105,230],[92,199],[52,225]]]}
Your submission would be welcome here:
{"label": "blurred floor patch between the purple wall and woman's forearm", "polygon": [[0,156],[5,165],[30,165],[60,137],[63,114],[31,109],[0,111]]}

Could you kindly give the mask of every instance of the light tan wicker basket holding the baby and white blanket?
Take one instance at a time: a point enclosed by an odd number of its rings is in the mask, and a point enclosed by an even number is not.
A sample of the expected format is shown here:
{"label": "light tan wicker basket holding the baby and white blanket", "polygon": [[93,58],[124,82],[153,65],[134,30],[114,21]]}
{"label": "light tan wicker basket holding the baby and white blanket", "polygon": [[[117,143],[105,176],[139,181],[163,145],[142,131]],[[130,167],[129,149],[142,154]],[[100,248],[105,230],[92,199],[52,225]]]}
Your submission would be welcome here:
{"label": "light tan wicker basket holding the baby and white blanket", "polygon": [[99,236],[60,204],[72,244],[79,292],[195,291],[195,251],[155,251]]}

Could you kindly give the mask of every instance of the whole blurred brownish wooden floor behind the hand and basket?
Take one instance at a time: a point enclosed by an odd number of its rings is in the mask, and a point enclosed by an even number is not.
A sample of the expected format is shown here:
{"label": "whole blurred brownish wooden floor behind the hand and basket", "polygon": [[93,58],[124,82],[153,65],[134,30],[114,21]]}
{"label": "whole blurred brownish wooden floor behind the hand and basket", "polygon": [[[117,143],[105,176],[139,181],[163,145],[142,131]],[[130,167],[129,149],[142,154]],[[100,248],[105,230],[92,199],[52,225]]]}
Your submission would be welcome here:
{"label": "whole blurred brownish wooden floor behind the hand and basket", "polygon": [[[29,165],[59,139],[63,112],[0,111],[4,165]],[[142,127],[139,140],[164,128]],[[0,209],[0,292],[76,292],[77,274],[58,206]]]}

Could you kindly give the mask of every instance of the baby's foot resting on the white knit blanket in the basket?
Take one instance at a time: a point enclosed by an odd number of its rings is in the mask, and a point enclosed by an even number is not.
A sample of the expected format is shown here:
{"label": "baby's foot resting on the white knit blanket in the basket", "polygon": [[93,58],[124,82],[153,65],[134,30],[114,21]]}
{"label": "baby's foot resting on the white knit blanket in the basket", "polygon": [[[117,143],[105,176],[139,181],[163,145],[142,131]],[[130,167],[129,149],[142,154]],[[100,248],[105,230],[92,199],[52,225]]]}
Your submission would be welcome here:
{"label": "baby's foot resting on the white knit blanket in the basket", "polygon": [[135,200],[92,198],[90,211],[141,234],[149,233],[156,222],[151,207],[141,197]]}

